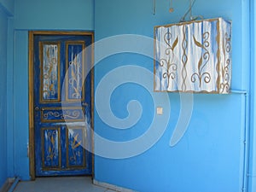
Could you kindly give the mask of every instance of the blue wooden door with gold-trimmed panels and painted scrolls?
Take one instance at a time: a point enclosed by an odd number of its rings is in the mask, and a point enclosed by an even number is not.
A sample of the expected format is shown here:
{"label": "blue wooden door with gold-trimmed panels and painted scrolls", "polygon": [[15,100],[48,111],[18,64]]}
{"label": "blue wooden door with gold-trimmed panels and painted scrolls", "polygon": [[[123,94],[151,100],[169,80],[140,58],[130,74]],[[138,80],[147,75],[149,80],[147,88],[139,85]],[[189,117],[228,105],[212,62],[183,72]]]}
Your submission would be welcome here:
{"label": "blue wooden door with gold-trimmed panels and painted scrolls", "polygon": [[91,43],[90,34],[34,36],[37,177],[91,174]]}

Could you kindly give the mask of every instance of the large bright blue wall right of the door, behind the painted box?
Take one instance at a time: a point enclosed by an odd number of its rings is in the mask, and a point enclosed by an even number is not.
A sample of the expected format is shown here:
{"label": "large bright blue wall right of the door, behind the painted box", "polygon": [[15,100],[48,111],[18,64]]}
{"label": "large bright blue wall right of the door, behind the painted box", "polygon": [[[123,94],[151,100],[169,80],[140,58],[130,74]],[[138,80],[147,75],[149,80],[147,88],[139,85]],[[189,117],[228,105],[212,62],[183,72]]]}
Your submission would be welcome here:
{"label": "large bright blue wall right of the door, behind the painted box", "polygon": [[[242,29],[248,22],[246,18],[249,11],[245,2],[248,1],[197,0],[193,9],[193,15],[203,15],[204,18],[221,16],[232,20],[232,90],[248,90],[249,86],[248,28]],[[101,61],[96,62],[96,91],[98,84],[117,67],[136,65],[153,73],[152,58],[137,53],[117,54],[119,49],[129,46],[129,42],[119,44],[124,41],[116,41],[116,44],[108,44],[108,39],[127,33],[153,38],[154,26],[178,22],[189,7],[189,1],[173,1],[173,7],[174,13],[170,14],[168,1],[156,1],[156,14],[153,15],[152,1],[96,0],[96,61],[103,57]],[[102,52],[101,46],[105,46],[106,50]],[[115,49],[116,46],[119,49]],[[111,50],[110,54],[107,53],[108,49]],[[133,49],[146,50],[150,53],[149,57],[153,56],[152,41],[148,46],[143,46],[138,39],[137,46],[133,46]],[[117,74],[114,80],[123,79],[127,73],[129,71]],[[114,142],[125,142],[147,131],[150,122],[154,120],[152,118],[157,107],[153,102],[163,102],[150,99],[154,89],[153,77],[142,79],[145,84],[148,80],[152,82],[151,91],[145,91],[141,85],[126,83],[113,91],[110,103],[107,103],[114,115],[124,119],[129,116],[127,103],[137,100],[143,108],[142,118],[138,123],[129,130],[119,131],[103,122],[95,110],[97,134]],[[113,81],[109,81],[109,84],[114,84]],[[108,91],[107,88],[105,91]],[[194,95],[194,108],[188,131],[180,143],[171,148],[169,142],[180,115],[181,103],[178,94],[168,95],[171,102],[170,121],[160,140],[143,154],[131,158],[113,160],[96,155],[96,180],[144,192],[241,191],[244,172],[245,96],[234,93],[227,96]],[[164,93],[159,93],[159,96],[159,100],[166,99]],[[160,107],[164,108],[165,113],[167,105]],[[152,129],[157,130],[161,126],[164,124],[160,122]],[[95,148],[96,151],[101,148],[101,143],[96,141]],[[129,149],[132,148],[125,150]],[[105,150],[111,152],[112,148],[105,147]]]}

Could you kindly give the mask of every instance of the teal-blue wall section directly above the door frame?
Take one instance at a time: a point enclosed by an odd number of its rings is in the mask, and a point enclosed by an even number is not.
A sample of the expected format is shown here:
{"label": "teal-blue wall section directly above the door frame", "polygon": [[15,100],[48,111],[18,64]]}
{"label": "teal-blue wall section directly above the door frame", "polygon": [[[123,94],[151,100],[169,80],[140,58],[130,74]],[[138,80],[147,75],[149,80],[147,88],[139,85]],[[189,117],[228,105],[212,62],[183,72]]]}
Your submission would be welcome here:
{"label": "teal-blue wall section directly above the door frame", "polygon": [[16,0],[15,28],[29,30],[93,30],[92,0]]}

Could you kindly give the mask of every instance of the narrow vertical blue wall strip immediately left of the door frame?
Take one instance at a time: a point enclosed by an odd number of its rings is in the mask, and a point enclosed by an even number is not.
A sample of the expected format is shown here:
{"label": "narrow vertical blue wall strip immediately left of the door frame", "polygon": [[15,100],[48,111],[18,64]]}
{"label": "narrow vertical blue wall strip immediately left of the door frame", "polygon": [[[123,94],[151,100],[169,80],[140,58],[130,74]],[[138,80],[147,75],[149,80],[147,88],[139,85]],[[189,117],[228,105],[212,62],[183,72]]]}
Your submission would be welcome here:
{"label": "narrow vertical blue wall strip immediately left of the door frame", "polygon": [[[14,171],[15,176],[28,179],[28,35],[15,31],[14,45]],[[20,49],[22,47],[22,49]]]}

